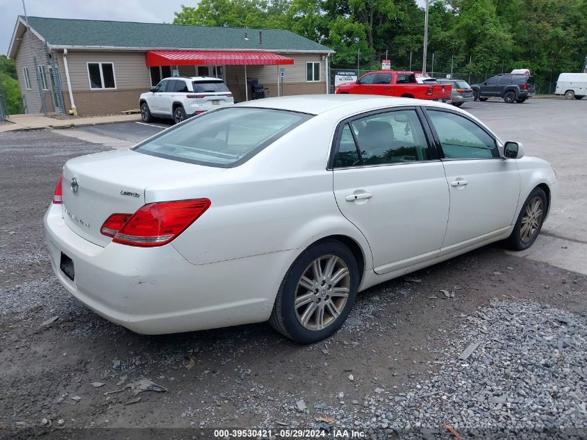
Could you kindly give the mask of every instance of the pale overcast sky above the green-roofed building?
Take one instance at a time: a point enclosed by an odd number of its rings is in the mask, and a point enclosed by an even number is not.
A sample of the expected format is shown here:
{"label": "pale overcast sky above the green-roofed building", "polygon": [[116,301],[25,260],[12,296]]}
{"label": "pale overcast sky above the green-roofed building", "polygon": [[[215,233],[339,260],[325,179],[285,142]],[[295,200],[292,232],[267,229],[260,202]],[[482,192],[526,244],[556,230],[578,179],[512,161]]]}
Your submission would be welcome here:
{"label": "pale overcast sky above the green-roofed building", "polygon": [[[25,0],[30,16],[150,23],[172,22],[182,3],[195,6],[197,0]],[[0,54],[8,52],[19,15],[22,0],[0,0]]]}

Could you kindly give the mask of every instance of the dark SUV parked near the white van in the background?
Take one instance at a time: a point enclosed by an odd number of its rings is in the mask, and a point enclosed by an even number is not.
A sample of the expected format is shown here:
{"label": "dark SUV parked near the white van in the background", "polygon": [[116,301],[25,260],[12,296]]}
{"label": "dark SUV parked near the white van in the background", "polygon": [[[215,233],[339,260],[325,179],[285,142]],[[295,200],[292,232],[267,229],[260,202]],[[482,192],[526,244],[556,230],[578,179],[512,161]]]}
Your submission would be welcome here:
{"label": "dark SUV parked near the white van in the background", "polygon": [[471,85],[475,101],[501,98],[508,104],[526,101],[536,93],[534,77],[523,74],[499,74],[480,84]]}

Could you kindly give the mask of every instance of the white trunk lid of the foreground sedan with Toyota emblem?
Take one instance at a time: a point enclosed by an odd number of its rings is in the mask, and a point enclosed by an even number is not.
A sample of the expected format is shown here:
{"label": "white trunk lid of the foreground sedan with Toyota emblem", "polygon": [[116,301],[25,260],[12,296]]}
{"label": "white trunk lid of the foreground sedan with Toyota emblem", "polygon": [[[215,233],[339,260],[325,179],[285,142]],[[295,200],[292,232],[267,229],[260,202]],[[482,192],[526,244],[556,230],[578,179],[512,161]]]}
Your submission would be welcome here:
{"label": "white trunk lid of the foreground sedan with Toyota emblem", "polygon": [[113,213],[135,213],[147,202],[145,189],[154,183],[172,188],[177,181],[197,179],[221,168],[181,163],[130,149],[81,156],[63,168],[63,218],[86,240],[106,246],[112,238],[100,232]]}

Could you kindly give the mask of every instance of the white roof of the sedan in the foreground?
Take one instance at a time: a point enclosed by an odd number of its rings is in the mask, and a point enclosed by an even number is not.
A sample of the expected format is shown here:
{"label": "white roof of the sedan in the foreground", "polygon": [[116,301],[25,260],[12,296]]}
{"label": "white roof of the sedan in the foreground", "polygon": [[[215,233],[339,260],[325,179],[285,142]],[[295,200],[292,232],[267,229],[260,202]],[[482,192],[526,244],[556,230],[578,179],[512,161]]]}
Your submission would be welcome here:
{"label": "white roof of the sedan in the foreground", "polygon": [[379,108],[395,106],[443,106],[434,101],[422,99],[386,97],[378,95],[295,95],[279,98],[254,99],[240,102],[235,106],[275,108],[277,110],[297,111],[320,115],[329,111],[338,110],[341,115],[353,115],[358,112],[377,110]]}

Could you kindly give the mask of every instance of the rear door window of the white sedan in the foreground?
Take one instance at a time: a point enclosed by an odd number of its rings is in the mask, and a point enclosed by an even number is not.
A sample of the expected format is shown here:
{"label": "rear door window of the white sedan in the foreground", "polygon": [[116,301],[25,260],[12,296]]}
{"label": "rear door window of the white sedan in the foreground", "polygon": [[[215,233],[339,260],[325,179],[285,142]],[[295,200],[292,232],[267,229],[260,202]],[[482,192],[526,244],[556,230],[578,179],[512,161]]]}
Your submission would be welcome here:
{"label": "rear door window of the white sedan in the foreground", "polygon": [[431,158],[417,113],[400,110],[377,113],[345,124],[334,166],[410,163]]}

